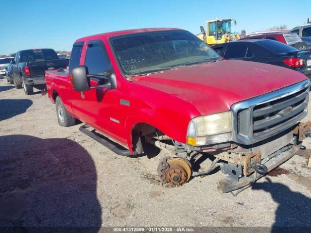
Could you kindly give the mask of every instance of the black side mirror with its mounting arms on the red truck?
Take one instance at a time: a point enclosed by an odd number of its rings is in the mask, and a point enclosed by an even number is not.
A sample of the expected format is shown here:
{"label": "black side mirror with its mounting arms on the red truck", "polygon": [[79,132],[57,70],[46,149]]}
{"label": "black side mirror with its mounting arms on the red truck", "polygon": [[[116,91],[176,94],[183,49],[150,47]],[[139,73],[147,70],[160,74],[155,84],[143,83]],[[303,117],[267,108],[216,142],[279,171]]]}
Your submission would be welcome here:
{"label": "black side mirror with its mounting arms on the red truck", "polygon": [[110,73],[103,72],[98,74],[88,74],[88,69],[86,66],[78,66],[72,69],[71,75],[70,75],[70,81],[73,90],[75,91],[88,91],[90,89],[94,88],[111,88],[111,81],[109,79],[109,82],[104,85],[98,85],[98,86],[91,86],[90,78],[96,77],[96,76],[109,76]]}

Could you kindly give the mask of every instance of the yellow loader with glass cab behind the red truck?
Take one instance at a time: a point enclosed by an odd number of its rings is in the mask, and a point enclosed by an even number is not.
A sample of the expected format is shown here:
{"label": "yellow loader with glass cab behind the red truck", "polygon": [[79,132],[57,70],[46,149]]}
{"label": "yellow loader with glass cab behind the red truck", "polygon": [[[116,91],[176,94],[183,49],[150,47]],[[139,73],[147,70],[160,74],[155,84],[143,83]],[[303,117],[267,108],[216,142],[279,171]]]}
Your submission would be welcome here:
{"label": "yellow loader with glass cab behind the red truck", "polygon": [[235,25],[237,24],[237,21],[233,18],[207,21],[207,32],[201,26],[201,33],[197,34],[197,37],[210,46],[238,40],[240,34],[235,33],[232,35],[231,21],[234,21]]}

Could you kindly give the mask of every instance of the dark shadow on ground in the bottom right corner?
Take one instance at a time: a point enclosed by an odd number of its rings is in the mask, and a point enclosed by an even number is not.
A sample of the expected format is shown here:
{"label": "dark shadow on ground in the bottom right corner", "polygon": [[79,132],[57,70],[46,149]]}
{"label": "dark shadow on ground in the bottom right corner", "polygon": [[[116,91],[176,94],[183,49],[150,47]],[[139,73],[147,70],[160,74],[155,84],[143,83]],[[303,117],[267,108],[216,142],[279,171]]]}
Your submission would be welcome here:
{"label": "dark shadow on ground in the bottom right corner", "polygon": [[[311,199],[301,193],[291,191],[286,185],[272,183],[266,178],[264,183],[255,183],[253,189],[262,189],[271,193],[273,200],[278,203],[276,210],[275,224],[272,233],[296,232],[308,227],[311,230]],[[269,206],[267,206],[269,208]],[[292,229],[288,229],[291,227]],[[296,228],[297,227],[297,228]],[[307,229],[305,229],[307,230]]]}

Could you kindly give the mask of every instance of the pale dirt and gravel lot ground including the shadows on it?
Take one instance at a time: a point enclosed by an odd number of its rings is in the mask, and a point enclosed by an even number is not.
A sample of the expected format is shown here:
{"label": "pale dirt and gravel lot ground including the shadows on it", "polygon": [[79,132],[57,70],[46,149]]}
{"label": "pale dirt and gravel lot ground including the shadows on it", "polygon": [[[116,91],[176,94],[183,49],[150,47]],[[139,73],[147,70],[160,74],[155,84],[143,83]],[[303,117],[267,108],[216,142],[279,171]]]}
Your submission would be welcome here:
{"label": "pale dirt and gravel lot ground including the shadows on it", "polygon": [[168,188],[156,176],[164,151],[116,155],[60,127],[47,96],[13,87],[0,82],[1,226],[311,226],[307,156],[237,197],[216,190],[220,171]]}

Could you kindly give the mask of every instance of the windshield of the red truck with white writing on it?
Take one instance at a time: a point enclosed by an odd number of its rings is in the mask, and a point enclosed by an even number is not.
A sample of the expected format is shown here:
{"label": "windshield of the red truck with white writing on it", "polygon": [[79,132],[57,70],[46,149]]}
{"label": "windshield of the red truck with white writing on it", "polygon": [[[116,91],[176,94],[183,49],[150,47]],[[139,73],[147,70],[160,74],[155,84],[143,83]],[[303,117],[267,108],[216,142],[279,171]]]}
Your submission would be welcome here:
{"label": "windshield of the red truck with white writing on it", "polygon": [[186,31],[138,33],[111,39],[126,75],[158,72],[222,59],[195,35]]}

